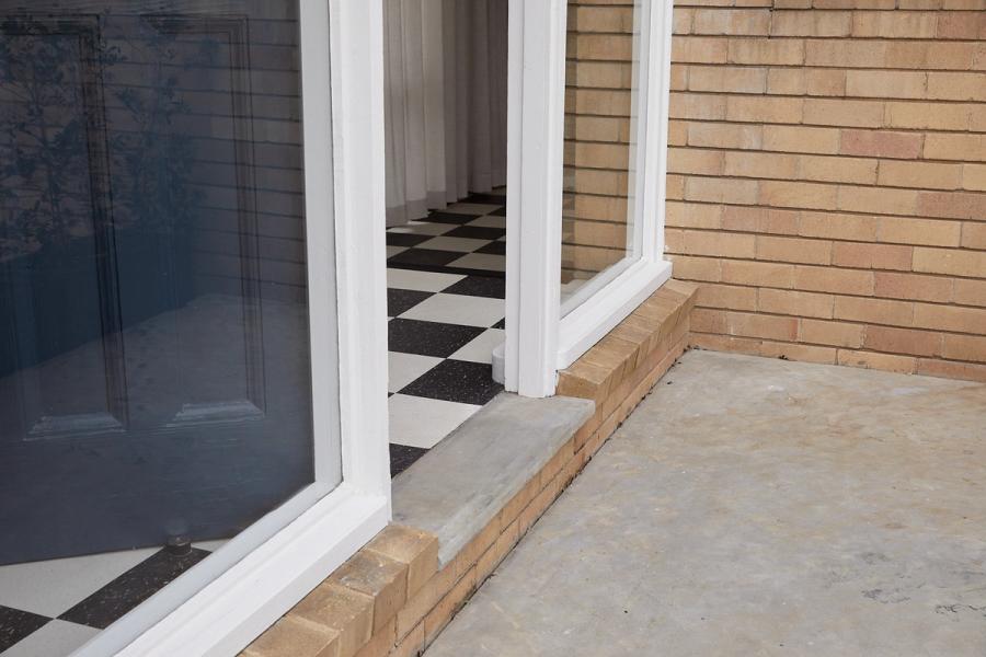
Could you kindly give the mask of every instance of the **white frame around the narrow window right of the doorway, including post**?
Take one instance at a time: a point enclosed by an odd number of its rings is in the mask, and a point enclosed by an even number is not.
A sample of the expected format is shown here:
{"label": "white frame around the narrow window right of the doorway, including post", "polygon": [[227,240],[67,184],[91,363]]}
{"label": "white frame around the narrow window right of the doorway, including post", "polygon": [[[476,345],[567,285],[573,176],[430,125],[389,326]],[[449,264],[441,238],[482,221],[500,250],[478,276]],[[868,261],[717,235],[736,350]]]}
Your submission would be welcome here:
{"label": "white frame around the narrow window right of the doorway, including post", "polygon": [[631,251],[639,257],[615,268],[609,280],[604,273],[605,284],[570,312],[560,310],[566,9],[566,0],[511,0],[509,7],[504,378],[507,390],[527,396],[553,394],[558,370],[672,275],[664,260],[664,200],[673,0],[642,0],[631,203]]}

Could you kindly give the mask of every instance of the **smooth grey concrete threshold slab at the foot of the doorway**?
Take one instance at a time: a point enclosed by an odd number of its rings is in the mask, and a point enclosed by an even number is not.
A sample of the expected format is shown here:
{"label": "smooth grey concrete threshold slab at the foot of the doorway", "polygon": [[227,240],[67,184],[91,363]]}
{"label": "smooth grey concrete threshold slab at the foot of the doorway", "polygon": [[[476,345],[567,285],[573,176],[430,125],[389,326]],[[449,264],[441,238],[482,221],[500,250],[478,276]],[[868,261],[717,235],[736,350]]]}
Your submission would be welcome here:
{"label": "smooth grey concrete threshold slab at the foot of the doorway", "polygon": [[502,393],[393,480],[393,520],[449,563],[592,417],[589,400]]}

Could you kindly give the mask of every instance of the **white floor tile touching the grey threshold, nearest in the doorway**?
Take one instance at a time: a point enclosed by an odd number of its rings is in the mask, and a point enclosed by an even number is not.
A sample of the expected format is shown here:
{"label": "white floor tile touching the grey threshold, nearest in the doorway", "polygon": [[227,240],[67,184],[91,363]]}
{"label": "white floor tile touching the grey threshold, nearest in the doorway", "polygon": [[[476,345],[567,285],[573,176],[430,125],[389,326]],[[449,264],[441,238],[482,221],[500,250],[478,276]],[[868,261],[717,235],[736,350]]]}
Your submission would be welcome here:
{"label": "white floor tile touching the grey threshold, nearest in the doorway", "polygon": [[442,400],[395,394],[387,400],[390,441],[431,449],[482,408]]}

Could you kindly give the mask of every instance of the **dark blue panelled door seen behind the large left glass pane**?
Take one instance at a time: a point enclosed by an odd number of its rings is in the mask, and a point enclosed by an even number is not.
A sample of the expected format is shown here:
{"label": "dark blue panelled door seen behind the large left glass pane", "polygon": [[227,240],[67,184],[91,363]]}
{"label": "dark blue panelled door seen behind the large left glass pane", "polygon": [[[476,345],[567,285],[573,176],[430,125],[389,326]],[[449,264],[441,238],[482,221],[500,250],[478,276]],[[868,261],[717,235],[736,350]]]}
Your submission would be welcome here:
{"label": "dark blue panelled door seen behind the large left glass pane", "polygon": [[313,481],[293,7],[0,2],[0,564]]}

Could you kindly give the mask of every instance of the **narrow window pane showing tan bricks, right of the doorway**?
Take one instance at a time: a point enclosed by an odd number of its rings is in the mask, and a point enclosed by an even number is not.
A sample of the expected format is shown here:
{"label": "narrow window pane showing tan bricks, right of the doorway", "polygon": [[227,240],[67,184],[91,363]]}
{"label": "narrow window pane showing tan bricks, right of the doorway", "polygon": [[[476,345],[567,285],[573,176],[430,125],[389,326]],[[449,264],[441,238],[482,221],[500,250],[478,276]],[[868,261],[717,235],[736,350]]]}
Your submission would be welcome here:
{"label": "narrow window pane showing tan bricks, right of the doorway", "polygon": [[562,314],[637,258],[640,3],[586,8],[569,0]]}

